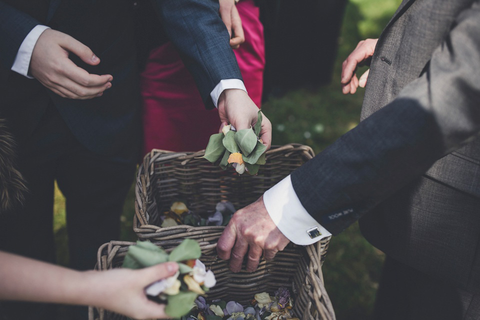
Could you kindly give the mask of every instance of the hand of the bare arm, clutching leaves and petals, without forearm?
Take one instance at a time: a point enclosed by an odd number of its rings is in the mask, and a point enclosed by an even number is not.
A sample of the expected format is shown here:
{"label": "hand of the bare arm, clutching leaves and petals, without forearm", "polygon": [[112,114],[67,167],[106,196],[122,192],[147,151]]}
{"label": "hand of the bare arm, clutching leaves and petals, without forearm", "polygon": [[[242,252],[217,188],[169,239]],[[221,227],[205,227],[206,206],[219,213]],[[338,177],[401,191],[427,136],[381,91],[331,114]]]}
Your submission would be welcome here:
{"label": "hand of the bare arm, clutching leaves and petals, without forearm", "polygon": [[[165,305],[148,300],[145,287],[173,276],[177,270],[176,263],[167,262],[139,270],[89,271],[87,273],[92,276],[91,281],[96,281],[96,284],[90,284],[91,287],[88,289],[90,292],[87,292],[90,298],[86,298],[85,304],[111,310],[133,319],[169,318],[164,312]],[[91,288],[97,289],[93,292]]]}

